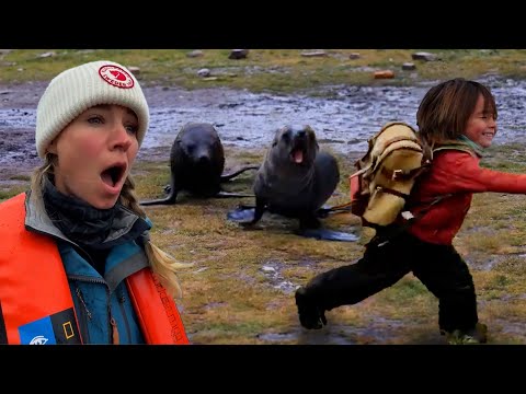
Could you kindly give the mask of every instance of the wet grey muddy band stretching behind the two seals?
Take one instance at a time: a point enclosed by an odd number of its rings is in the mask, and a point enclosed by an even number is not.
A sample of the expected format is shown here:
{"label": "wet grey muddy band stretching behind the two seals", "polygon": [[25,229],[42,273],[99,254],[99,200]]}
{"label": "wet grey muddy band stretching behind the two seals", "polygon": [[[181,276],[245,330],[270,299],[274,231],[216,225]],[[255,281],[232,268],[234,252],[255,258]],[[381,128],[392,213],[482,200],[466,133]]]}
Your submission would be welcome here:
{"label": "wet grey muddy band stretching behind the two seals", "polygon": [[[494,143],[526,142],[526,82],[489,77],[499,109]],[[308,124],[322,147],[339,153],[361,152],[385,123],[414,126],[420,101],[434,83],[419,86],[329,86],[316,96],[254,94],[248,91],[145,88],[151,123],[138,159],[169,158],[179,129],[188,121],[214,124],[227,147],[270,144],[275,129]],[[45,83],[0,85],[0,167],[38,163],[34,152],[36,105]]]}

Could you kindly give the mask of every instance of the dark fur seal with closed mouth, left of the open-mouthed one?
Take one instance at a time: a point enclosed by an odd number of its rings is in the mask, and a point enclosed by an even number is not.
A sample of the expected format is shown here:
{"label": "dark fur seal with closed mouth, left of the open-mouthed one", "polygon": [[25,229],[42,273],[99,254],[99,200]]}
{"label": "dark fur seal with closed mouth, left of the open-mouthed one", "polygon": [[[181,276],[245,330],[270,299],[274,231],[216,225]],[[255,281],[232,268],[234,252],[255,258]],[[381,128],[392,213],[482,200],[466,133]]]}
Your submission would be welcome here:
{"label": "dark fur seal with closed mouth, left of the open-mouthed one", "polygon": [[216,129],[206,123],[188,123],[179,131],[170,152],[171,175],[168,197],[141,201],[140,205],[175,204],[181,190],[205,198],[253,197],[250,194],[225,192],[220,184],[247,170],[258,169],[258,165],[250,165],[230,174],[222,174],[225,151]]}

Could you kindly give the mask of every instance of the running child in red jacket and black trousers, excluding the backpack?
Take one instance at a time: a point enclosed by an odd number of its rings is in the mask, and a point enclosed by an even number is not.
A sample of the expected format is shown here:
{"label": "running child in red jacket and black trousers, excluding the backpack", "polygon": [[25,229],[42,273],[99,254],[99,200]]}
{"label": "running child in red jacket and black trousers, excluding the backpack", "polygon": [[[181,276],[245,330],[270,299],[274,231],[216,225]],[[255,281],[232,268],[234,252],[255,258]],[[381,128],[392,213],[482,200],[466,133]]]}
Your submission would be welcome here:
{"label": "running child in red jacket and black trousers, excluding the backpack", "polygon": [[[418,219],[409,227],[378,231],[356,264],[322,273],[300,287],[296,304],[304,327],[321,328],[324,311],[357,303],[412,271],[438,298],[438,326],[449,344],[487,341],[487,327],[478,323],[473,280],[453,239],[473,193],[526,194],[526,175],[479,166],[496,132],[496,107],[488,88],[478,82],[454,79],[432,88],[416,123],[421,141],[434,151],[431,170],[405,206]],[[450,196],[430,207],[445,195]]]}

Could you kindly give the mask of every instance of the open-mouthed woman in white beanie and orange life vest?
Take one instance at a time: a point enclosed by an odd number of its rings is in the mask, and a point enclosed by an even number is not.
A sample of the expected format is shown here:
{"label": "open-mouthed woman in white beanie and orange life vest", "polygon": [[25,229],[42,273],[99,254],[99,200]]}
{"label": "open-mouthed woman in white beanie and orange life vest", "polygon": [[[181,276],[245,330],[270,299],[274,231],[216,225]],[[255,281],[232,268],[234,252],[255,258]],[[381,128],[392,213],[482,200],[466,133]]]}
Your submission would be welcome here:
{"label": "open-mouthed woman in white beanie and orange life vest", "polygon": [[188,343],[179,264],[151,244],[129,176],[148,121],[139,83],[116,62],[47,86],[35,134],[45,163],[0,204],[0,344]]}

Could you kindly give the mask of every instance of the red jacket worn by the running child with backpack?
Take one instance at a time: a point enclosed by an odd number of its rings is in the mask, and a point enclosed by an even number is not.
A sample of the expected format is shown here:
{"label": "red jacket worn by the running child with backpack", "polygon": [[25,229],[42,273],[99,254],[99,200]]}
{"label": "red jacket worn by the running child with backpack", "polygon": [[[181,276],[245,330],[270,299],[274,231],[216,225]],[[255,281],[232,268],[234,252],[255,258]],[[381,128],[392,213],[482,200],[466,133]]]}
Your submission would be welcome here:
{"label": "red jacket worn by the running child with backpack", "polygon": [[496,192],[526,194],[526,175],[482,169],[480,158],[457,150],[436,152],[431,171],[411,192],[409,206],[413,215],[425,208],[421,201],[454,194],[433,206],[409,228],[419,239],[434,244],[451,244],[471,206],[473,193]]}

